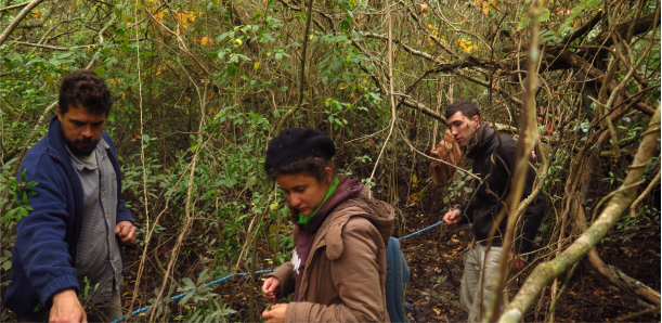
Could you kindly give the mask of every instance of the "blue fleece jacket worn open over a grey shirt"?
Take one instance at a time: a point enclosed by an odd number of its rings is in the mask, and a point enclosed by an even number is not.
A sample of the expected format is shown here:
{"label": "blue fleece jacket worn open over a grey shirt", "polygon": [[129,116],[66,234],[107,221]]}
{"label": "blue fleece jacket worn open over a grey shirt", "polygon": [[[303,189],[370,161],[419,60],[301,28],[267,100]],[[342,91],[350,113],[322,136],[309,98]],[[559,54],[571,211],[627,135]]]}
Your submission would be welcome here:
{"label": "blue fleece jacket worn open over a grey shirt", "polygon": [[[80,292],[75,264],[85,194],[60,127],[60,120],[53,117],[48,134],[27,152],[18,169],[18,173],[26,170],[27,182],[38,183],[33,189],[37,195],[28,197],[33,211],[18,222],[3,306],[36,322],[43,321],[55,294]],[[117,222],[133,222],[120,198],[121,172],[115,145],[105,131],[102,138],[111,146],[107,154],[117,175]],[[43,306],[36,311],[40,302]]]}

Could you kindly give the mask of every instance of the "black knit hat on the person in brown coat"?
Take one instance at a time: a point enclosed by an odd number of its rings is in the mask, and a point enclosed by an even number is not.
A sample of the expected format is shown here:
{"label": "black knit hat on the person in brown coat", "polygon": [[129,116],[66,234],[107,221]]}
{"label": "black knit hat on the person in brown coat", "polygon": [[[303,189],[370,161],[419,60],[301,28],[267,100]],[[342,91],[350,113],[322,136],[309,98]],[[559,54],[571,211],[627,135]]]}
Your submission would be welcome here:
{"label": "black knit hat on the person in brown coat", "polygon": [[264,170],[269,173],[294,162],[308,157],[330,160],[336,154],[336,144],[326,133],[312,127],[283,129],[269,142]]}

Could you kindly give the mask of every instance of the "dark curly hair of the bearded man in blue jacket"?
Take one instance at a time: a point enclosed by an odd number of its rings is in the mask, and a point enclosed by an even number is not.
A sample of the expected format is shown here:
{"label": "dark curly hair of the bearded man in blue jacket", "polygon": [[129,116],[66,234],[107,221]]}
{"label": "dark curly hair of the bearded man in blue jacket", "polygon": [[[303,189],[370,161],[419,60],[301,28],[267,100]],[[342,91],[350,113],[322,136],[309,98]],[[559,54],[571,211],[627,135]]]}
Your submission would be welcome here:
{"label": "dark curly hair of the bearded man in blue jacket", "polygon": [[103,78],[92,70],[79,69],[62,79],[57,104],[63,115],[69,111],[69,107],[82,105],[91,114],[105,114],[107,117],[113,100]]}

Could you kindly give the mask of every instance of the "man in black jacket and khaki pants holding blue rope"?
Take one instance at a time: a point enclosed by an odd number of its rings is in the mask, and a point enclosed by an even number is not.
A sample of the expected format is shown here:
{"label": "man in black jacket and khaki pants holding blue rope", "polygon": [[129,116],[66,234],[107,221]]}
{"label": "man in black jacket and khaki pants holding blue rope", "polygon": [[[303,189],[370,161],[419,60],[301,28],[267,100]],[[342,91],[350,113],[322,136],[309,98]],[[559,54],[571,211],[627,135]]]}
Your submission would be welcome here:
{"label": "man in black jacket and khaki pants holding blue rope", "polygon": [[[514,249],[502,250],[502,236],[506,234],[508,220],[506,217],[499,223],[495,223],[495,220],[510,193],[517,142],[509,135],[497,134],[486,122],[481,122],[480,112],[473,103],[454,102],[446,109],[445,117],[455,141],[466,148],[466,156],[473,160],[472,172],[481,180],[467,205],[444,215],[444,222],[452,227],[473,223],[473,241],[465,254],[459,300],[462,309],[469,314],[469,322],[480,322],[492,298],[492,282],[498,274],[501,253],[510,254],[515,271],[523,268],[520,255],[531,251],[544,217],[546,198],[544,194],[538,194],[518,225]],[[535,170],[530,167],[522,198],[531,194],[534,180]],[[485,246],[490,231],[495,224],[497,228],[488,250]]]}

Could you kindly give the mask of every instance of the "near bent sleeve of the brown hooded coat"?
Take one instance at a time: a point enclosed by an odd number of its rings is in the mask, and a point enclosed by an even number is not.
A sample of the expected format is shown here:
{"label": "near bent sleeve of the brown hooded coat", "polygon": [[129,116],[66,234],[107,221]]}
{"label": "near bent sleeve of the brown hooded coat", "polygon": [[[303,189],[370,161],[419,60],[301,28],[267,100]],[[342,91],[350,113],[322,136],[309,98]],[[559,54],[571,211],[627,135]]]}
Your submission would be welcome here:
{"label": "near bent sleeve of the brown hooded coat", "polygon": [[[377,229],[367,220],[350,220],[342,229],[342,254],[332,260],[332,280],[341,302],[330,306],[312,302],[290,302],[285,312],[286,323],[386,322],[380,283]],[[385,273],[386,274],[386,273]]]}

